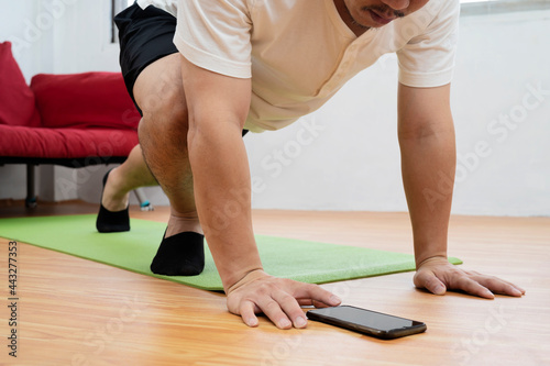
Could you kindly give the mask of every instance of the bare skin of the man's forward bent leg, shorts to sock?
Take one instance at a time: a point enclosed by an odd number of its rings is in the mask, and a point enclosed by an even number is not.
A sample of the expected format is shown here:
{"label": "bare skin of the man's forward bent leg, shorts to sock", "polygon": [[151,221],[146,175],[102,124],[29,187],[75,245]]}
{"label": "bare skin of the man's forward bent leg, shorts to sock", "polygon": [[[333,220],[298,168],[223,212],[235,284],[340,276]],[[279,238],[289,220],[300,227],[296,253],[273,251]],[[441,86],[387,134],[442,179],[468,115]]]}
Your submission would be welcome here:
{"label": "bare skin of the man's forward bent leg, shorts to sock", "polygon": [[166,56],[145,68],[134,86],[143,111],[139,126],[143,156],[170,201],[166,237],[182,231],[202,233],[193,191],[187,154],[187,104],[179,55]]}

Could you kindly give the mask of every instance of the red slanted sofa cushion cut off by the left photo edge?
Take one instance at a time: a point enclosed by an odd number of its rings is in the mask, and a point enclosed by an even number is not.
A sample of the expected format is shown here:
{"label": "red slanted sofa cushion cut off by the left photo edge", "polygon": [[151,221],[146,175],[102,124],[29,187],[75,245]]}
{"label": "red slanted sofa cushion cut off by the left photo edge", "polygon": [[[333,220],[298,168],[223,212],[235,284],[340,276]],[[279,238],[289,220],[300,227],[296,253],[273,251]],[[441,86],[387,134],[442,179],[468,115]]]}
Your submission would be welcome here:
{"label": "red slanted sofa cushion cut off by the left photo edge", "polygon": [[11,43],[0,43],[0,124],[38,126],[34,95],[11,53]]}

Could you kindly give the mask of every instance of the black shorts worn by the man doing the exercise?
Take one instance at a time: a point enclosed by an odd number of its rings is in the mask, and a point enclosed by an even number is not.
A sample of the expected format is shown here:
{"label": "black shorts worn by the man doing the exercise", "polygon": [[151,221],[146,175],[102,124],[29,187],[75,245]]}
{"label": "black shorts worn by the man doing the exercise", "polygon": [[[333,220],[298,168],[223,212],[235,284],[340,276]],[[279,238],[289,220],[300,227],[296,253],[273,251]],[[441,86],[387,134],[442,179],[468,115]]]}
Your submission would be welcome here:
{"label": "black shorts worn by the man doing the exercise", "polygon": [[[155,60],[178,52],[174,45],[176,18],[153,5],[143,10],[134,3],[117,14],[114,23],[119,29],[122,76],[135,103],[133,88],[141,71]],[[135,106],[139,109],[138,103]]]}

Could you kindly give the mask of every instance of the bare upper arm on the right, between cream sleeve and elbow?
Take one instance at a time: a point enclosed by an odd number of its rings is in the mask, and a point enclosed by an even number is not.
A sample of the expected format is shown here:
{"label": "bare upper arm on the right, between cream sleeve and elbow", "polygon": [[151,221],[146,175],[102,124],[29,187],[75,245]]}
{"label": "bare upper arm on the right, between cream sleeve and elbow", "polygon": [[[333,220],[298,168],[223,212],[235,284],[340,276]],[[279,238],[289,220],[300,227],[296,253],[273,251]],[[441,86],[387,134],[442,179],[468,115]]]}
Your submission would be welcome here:
{"label": "bare upper arm on the right, between cream sleeve and elbow", "polygon": [[397,120],[399,138],[418,137],[453,129],[451,85],[415,88],[399,84]]}

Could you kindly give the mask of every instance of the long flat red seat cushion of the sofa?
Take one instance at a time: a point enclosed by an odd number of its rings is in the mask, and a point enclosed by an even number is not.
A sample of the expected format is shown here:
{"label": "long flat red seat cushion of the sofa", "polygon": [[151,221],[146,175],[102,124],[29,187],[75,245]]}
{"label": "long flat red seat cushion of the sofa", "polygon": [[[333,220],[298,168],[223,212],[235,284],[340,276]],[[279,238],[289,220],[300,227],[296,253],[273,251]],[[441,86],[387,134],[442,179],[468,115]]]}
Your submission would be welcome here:
{"label": "long flat red seat cushion of the sofa", "polygon": [[45,129],[0,124],[0,156],[80,158],[128,156],[138,132],[113,129]]}

